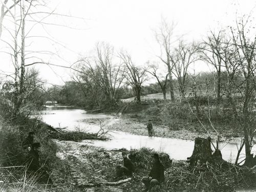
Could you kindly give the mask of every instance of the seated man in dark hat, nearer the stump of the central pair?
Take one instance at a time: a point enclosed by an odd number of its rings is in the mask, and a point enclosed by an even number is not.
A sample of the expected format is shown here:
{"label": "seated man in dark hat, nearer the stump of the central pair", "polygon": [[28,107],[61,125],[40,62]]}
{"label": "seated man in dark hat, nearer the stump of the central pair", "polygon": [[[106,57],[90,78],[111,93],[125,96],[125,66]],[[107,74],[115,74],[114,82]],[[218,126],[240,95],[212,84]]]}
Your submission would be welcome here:
{"label": "seated man in dark hat, nearer the stump of the central pair", "polygon": [[145,185],[144,191],[148,191],[153,186],[159,185],[161,182],[164,181],[164,167],[159,160],[159,155],[155,153],[152,157],[154,158],[154,164],[151,172],[148,177],[142,178],[142,182]]}

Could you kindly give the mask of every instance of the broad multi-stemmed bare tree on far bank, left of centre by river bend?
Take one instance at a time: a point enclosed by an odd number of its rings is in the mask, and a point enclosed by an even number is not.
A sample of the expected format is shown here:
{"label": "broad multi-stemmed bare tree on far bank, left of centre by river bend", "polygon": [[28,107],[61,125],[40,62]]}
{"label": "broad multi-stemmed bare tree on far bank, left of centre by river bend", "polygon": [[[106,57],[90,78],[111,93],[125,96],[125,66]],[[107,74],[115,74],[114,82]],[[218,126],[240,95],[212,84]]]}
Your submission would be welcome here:
{"label": "broad multi-stemmed bare tree on far bank, left of centre by river bend", "polygon": [[[81,59],[76,69],[77,72],[73,79],[85,90],[91,90],[90,92],[94,93],[91,95],[92,98],[98,98],[95,93],[96,90],[100,90],[102,92],[101,99],[105,103],[117,105],[125,72],[121,60],[115,56],[112,46],[105,42],[97,43],[95,55]],[[91,89],[93,87],[95,91]],[[97,94],[99,93],[97,92]]]}

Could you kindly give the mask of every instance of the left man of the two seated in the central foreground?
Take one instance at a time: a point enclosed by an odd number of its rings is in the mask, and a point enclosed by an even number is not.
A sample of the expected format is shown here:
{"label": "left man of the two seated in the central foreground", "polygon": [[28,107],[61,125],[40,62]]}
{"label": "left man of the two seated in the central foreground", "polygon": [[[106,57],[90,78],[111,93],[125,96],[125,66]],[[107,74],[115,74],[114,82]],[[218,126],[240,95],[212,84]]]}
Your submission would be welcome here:
{"label": "left man of the two seated in the central foreground", "polygon": [[117,176],[122,177],[123,174],[126,176],[132,176],[134,172],[134,164],[131,159],[127,157],[126,152],[122,152],[123,166],[117,166]]}

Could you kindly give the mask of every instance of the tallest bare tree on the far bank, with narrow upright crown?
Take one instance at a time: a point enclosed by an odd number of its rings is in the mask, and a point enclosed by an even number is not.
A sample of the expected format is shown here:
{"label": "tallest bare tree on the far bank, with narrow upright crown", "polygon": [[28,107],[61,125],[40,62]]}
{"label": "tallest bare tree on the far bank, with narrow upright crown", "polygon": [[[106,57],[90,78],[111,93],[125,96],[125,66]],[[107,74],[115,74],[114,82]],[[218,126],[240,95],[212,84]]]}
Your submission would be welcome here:
{"label": "tallest bare tree on the far bank, with narrow upright crown", "polygon": [[160,46],[161,55],[158,58],[167,66],[169,73],[169,89],[170,98],[174,102],[174,82],[173,82],[173,62],[170,57],[172,52],[172,45],[177,41],[177,38],[173,36],[173,31],[175,29],[175,24],[168,24],[165,19],[162,18],[160,28],[155,31],[155,38]]}

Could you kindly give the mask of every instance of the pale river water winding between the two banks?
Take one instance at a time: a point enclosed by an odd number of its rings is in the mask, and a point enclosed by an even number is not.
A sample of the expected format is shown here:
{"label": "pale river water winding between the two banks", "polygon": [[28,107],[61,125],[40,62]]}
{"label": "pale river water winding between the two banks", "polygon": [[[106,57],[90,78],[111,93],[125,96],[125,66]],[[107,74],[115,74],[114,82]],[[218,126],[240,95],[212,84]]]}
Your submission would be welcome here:
{"label": "pale river water winding between the two banks", "polygon": [[[46,123],[54,127],[67,127],[66,130],[80,130],[86,132],[98,132],[99,126],[92,125],[86,119],[100,119],[104,120],[105,126],[109,126],[119,120],[118,117],[106,115],[87,113],[84,110],[74,109],[68,106],[49,106],[46,110],[41,111],[41,118]],[[126,148],[141,148],[150,147],[158,152],[165,152],[169,154],[172,159],[186,160],[191,156],[194,148],[194,141],[174,139],[174,138],[162,138],[162,137],[147,137],[141,135],[127,134],[124,132],[110,132],[109,140],[83,140],[81,144],[94,145],[103,147],[107,150]],[[235,142],[221,143],[221,153],[224,160],[234,162],[236,160],[237,145]],[[241,153],[241,157],[244,157],[244,151]]]}

